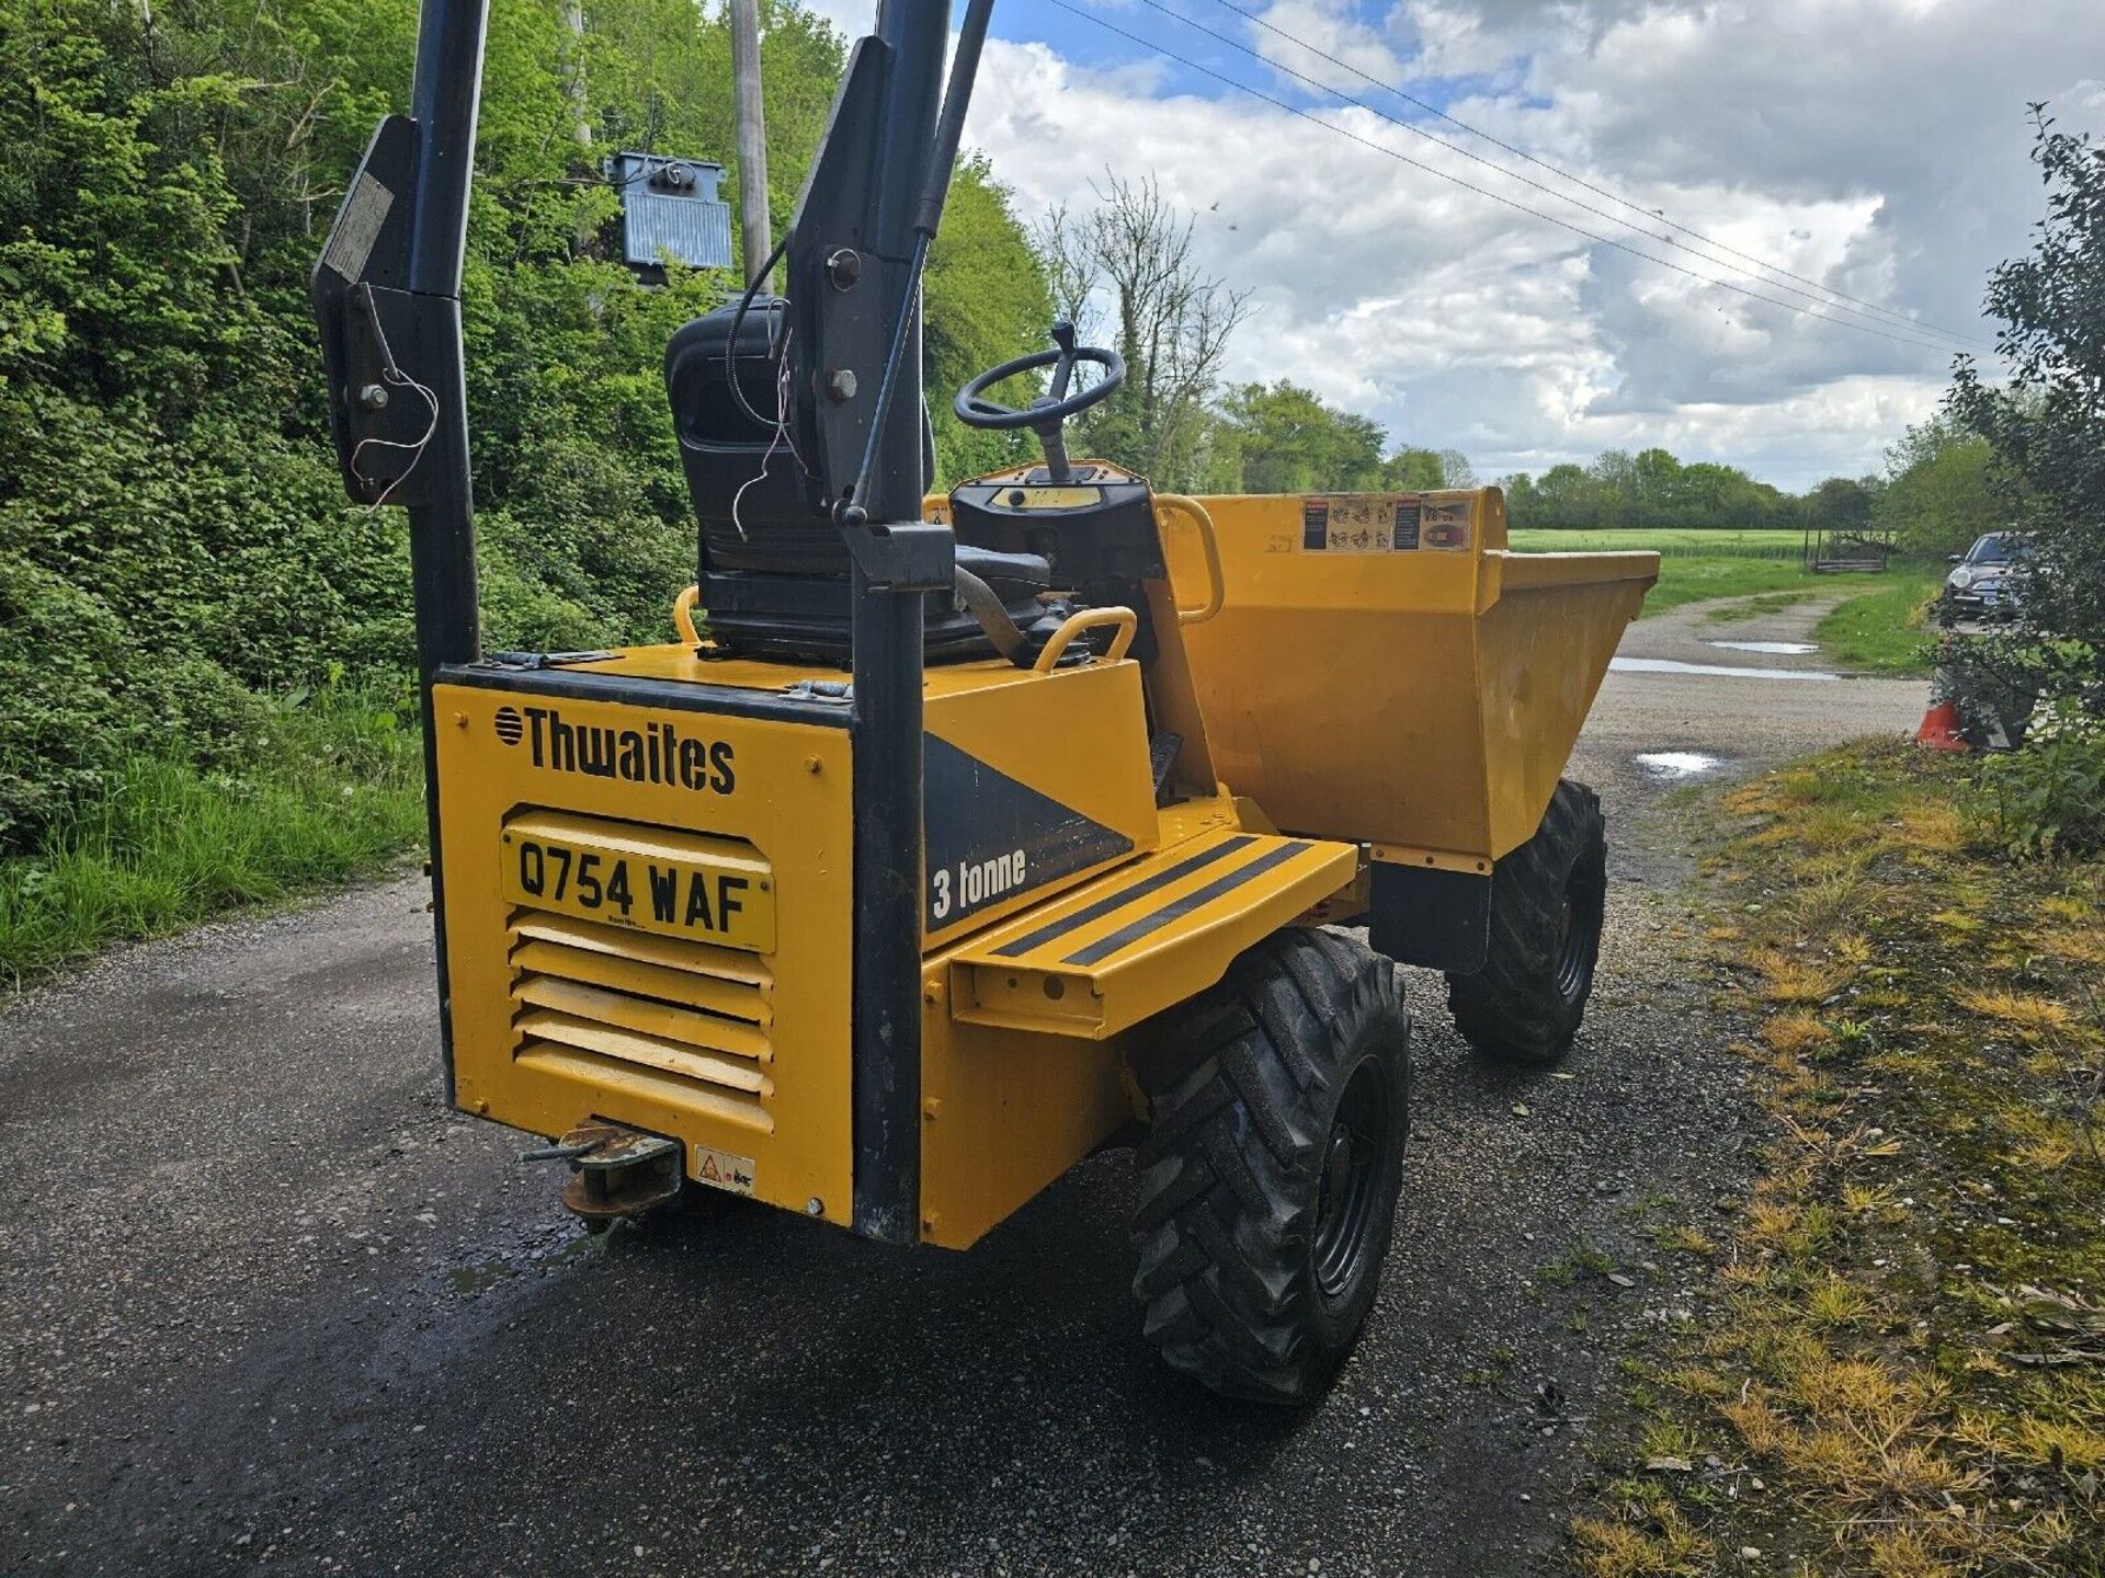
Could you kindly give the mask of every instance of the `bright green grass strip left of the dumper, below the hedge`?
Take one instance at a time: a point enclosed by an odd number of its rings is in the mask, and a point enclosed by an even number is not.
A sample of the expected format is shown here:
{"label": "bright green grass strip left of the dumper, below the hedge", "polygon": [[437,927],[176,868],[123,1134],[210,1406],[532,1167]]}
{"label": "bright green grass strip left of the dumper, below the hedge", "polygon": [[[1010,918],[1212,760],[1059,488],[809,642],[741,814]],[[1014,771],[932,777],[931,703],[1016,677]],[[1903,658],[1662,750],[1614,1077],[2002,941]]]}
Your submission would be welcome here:
{"label": "bright green grass strip left of the dumper, below the hedge", "polygon": [[0,856],[0,989],[107,943],[373,871],[423,837],[417,730],[381,707],[278,707],[253,766],[135,757],[34,854]]}

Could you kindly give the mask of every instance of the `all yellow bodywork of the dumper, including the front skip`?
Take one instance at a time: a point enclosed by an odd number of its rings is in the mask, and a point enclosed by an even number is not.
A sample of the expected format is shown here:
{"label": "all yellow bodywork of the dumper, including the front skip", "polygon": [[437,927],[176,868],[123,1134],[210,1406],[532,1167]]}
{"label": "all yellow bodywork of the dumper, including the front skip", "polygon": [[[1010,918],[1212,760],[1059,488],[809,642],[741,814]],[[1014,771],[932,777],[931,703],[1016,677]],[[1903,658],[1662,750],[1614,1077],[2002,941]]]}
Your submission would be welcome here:
{"label": "all yellow bodywork of the dumper, including the front skip", "polygon": [[[1145,1117],[1135,1029],[1276,928],[1364,913],[1368,854],[1488,869],[1522,842],[1657,574],[1509,555],[1495,490],[1427,497],[1408,551],[1400,501],[1320,501],[1322,549],[1311,503],[1166,509],[1145,663],[928,669],[926,1241],[973,1243]],[[617,684],[434,692],[457,1100],[669,1134],[690,1176],[846,1225],[850,734],[760,705],[842,675],[690,642],[583,671]],[[1069,823],[951,848],[1004,797]]]}

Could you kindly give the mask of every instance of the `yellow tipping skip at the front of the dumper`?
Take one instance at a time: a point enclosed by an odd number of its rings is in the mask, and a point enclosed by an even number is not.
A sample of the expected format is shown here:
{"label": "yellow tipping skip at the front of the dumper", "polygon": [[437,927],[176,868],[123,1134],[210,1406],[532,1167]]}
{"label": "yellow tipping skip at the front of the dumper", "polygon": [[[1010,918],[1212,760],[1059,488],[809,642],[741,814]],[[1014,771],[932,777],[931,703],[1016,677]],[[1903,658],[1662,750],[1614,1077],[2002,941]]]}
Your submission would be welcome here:
{"label": "yellow tipping skip at the front of the dumper", "polygon": [[1377,861],[1532,835],[1659,555],[1509,553],[1497,488],[1202,503],[1227,595],[1185,646],[1236,793]]}

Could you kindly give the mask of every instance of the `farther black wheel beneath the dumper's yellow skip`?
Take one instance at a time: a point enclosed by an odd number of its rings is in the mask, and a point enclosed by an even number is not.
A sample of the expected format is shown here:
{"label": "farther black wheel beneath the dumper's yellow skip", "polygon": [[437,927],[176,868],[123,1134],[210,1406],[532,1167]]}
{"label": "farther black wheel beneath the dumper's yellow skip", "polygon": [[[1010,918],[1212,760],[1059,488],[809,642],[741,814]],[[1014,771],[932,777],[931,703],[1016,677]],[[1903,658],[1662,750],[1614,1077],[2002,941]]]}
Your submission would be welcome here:
{"label": "farther black wheel beneath the dumper's yellow skip", "polygon": [[1535,837],[1490,873],[1484,968],[1448,976],[1455,1027],[1488,1058],[1558,1063],[1579,1033],[1608,905],[1600,795],[1564,778]]}

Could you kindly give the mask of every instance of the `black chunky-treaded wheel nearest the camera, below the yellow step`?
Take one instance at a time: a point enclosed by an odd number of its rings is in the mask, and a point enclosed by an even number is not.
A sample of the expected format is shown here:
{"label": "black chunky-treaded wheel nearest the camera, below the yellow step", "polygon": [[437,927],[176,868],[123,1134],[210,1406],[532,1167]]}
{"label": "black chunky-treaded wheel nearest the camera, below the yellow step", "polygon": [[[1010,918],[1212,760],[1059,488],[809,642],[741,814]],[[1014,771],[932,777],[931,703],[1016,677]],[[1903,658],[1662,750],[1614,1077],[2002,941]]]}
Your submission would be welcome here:
{"label": "black chunky-treaded wheel nearest the camera, below the yellow step", "polygon": [[1318,1399],[1381,1286],[1408,1128],[1410,1014],[1362,943],[1278,932],[1135,1054],[1132,1292],[1149,1340],[1212,1391]]}

